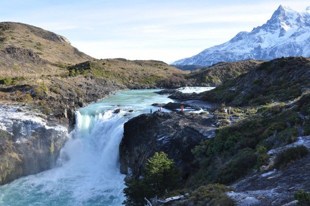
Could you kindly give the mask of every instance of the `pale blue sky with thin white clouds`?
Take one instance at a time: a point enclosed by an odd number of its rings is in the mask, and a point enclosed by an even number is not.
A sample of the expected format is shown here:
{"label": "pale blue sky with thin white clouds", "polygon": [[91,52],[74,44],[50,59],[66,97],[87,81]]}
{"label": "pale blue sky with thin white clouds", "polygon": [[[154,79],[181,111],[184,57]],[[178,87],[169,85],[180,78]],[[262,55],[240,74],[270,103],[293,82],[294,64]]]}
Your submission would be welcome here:
{"label": "pale blue sky with thin white clouds", "polygon": [[309,1],[3,1],[0,22],[21,22],[66,37],[95,58],[171,63],[264,24],[279,5]]}

